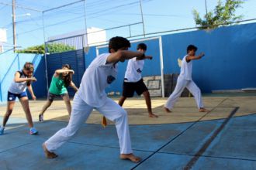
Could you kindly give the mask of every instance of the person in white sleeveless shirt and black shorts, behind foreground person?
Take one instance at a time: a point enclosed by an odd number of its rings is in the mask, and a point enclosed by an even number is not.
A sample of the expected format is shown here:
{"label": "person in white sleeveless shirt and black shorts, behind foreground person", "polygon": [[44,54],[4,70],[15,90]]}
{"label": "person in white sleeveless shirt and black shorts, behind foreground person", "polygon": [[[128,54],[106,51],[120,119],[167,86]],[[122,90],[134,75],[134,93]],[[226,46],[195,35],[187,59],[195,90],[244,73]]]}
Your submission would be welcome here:
{"label": "person in white sleeveless shirt and black shorts, behind foreground person", "polygon": [[[147,50],[147,45],[144,43],[140,43],[137,46],[137,51],[141,53],[145,53]],[[145,58],[145,59],[152,59],[152,57]],[[144,67],[144,59],[129,59],[126,73],[123,80],[123,94],[122,97],[119,99],[118,104],[123,106],[124,101],[127,97],[133,97],[134,92],[140,96],[141,94],[144,95],[147,104],[147,111],[148,117],[157,117],[157,115],[153,114],[151,108],[151,100],[150,100],[150,93],[144,83],[144,80],[141,77],[141,72]]]}

